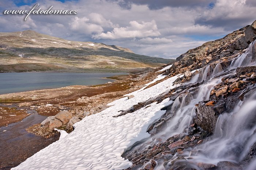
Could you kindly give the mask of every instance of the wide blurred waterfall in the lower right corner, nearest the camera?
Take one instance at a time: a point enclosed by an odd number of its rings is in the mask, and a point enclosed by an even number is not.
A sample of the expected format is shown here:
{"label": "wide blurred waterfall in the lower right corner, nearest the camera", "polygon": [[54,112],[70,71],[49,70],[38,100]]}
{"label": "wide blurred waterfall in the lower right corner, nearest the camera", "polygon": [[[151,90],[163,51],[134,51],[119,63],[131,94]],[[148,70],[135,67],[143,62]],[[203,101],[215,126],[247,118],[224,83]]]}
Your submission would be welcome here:
{"label": "wide blurred waterfall in the lower right corner, nearest the camera", "polygon": [[[212,140],[194,148],[184,150],[187,167],[200,169],[197,163],[217,165],[221,161],[238,163],[256,142],[256,94],[241,101],[230,113],[219,116]],[[197,153],[192,156],[192,153]],[[174,157],[175,159],[177,157]],[[179,163],[181,163],[180,161]],[[169,163],[168,166],[170,166]]]}

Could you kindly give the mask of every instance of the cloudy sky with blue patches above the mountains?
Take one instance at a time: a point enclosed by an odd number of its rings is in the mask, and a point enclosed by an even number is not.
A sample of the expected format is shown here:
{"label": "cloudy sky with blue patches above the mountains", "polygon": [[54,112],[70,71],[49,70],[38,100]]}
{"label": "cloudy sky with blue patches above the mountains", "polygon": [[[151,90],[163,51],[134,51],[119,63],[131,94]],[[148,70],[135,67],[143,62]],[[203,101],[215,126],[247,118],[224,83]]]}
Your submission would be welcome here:
{"label": "cloudy sky with blue patches above the mountains", "polygon": [[[77,10],[76,15],[4,15],[5,10]],[[37,9],[38,9],[37,8]],[[176,58],[256,20],[255,0],[0,0],[0,32],[32,29],[68,40]]]}

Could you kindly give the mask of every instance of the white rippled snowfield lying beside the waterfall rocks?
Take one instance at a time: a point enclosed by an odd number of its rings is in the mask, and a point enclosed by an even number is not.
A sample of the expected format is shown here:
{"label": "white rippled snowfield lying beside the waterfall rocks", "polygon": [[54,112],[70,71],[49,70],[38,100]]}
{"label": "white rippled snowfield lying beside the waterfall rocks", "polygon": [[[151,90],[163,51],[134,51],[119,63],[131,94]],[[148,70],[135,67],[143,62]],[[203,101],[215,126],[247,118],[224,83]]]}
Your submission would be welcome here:
{"label": "white rippled snowfield lying beside the waterfall rocks", "polygon": [[145,90],[133,92],[134,97],[131,99],[124,97],[109,103],[111,107],[106,110],[86,116],[75,123],[75,130],[72,133],[59,131],[61,132],[59,141],[12,169],[121,170],[130,167],[132,163],[128,159],[124,160],[121,155],[136,142],[150,137],[147,133],[148,128],[165,114],[161,108],[173,101],[167,98],[161,103],[151,103],[135,112],[114,116],[138,102],[145,102],[179,86],[179,84],[174,85],[173,82],[181,76],[183,75],[176,75]]}

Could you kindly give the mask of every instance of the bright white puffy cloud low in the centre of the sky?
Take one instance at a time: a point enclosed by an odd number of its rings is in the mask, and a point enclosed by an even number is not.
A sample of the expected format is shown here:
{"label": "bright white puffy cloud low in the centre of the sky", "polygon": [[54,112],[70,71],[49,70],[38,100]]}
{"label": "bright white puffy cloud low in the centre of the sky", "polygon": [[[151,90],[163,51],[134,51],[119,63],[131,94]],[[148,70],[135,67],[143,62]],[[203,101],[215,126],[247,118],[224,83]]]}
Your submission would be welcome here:
{"label": "bright white puffy cloud low in the centre of the sky", "polygon": [[157,30],[155,20],[144,22],[130,21],[130,26],[114,28],[113,31],[94,35],[94,39],[120,39],[120,38],[142,38],[148,36],[159,36],[161,33]]}

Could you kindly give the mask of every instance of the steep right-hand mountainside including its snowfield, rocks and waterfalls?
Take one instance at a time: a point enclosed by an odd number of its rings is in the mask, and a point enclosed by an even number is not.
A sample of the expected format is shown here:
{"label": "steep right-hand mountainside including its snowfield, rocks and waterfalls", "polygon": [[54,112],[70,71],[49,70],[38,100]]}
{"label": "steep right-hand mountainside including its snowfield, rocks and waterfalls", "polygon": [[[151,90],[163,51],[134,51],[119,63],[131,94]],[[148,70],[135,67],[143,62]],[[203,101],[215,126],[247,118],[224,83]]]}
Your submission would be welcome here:
{"label": "steep right-hand mountainside including its snowfield, rocks and waterfalls", "polygon": [[254,170],[255,39],[256,21],[135,78],[154,80],[15,169]]}

